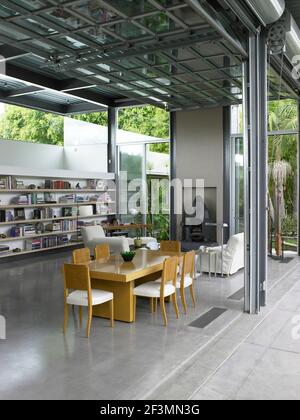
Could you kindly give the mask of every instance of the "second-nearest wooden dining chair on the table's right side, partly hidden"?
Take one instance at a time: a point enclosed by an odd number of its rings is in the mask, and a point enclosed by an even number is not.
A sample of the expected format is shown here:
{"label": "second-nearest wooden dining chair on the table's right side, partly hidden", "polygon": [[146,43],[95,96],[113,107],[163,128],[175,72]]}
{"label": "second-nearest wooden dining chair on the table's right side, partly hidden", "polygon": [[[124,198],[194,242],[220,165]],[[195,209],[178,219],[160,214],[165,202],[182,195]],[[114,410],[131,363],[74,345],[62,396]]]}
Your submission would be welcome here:
{"label": "second-nearest wooden dining chair on the table's right side, partly hidden", "polygon": [[196,307],[196,296],[194,290],[195,279],[195,251],[187,252],[183,257],[181,273],[177,277],[176,289],[180,289],[180,296],[184,312],[187,314],[185,289],[189,288],[193,306]]}

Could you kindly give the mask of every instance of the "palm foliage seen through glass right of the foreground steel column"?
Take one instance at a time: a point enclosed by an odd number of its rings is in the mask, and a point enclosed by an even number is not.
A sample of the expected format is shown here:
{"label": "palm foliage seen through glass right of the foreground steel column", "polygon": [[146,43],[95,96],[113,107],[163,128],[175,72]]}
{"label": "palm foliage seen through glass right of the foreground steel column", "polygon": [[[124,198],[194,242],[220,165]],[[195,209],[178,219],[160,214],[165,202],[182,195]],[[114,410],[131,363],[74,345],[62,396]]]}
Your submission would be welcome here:
{"label": "palm foliage seen through glass right of the foreground steel column", "polygon": [[[269,130],[274,135],[269,137],[269,195],[270,222],[275,233],[275,245],[278,256],[285,249],[297,250],[297,175],[298,145],[297,135],[288,134],[298,127],[298,106],[294,100],[269,103]],[[287,134],[276,134],[278,132]]]}

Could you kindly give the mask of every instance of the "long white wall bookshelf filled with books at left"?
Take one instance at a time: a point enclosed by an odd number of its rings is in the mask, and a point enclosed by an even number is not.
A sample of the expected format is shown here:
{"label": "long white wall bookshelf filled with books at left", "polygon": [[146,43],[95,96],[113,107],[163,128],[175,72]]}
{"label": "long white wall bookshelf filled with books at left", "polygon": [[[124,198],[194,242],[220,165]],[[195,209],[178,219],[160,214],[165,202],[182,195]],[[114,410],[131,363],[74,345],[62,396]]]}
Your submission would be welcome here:
{"label": "long white wall bookshelf filled with books at left", "polygon": [[114,174],[0,166],[0,260],[82,245],[115,215]]}

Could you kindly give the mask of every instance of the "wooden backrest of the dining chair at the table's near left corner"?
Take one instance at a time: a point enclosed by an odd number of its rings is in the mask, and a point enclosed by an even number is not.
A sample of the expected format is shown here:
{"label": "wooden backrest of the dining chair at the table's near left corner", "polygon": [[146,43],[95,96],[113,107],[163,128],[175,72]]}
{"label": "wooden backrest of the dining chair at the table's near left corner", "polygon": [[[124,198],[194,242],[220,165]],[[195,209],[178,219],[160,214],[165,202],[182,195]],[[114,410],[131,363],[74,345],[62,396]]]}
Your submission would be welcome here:
{"label": "wooden backrest of the dining chair at the table's near left corner", "polygon": [[91,278],[89,268],[85,264],[64,265],[65,293],[69,289],[91,293]]}

